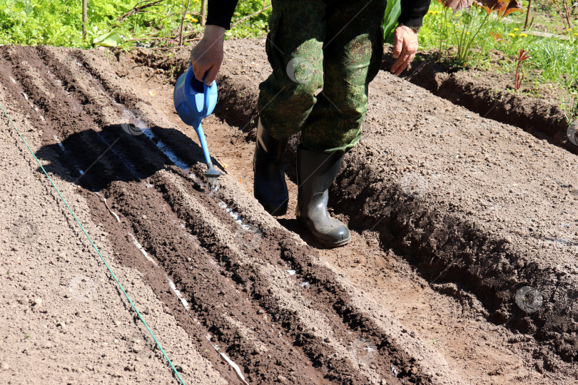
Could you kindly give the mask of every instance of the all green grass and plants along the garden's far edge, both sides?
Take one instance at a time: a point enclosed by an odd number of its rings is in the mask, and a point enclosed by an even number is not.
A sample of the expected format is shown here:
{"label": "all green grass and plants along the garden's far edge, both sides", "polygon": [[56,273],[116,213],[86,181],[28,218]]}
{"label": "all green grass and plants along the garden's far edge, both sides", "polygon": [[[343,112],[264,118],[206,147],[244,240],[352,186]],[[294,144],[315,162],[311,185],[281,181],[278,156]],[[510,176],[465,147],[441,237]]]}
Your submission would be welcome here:
{"label": "all green grass and plants along the garden's far edge, both sides", "polygon": [[[198,40],[203,29],[203,0],[88,0],[86,36],[79,0],[0,1],[5,3],[0,6],[1,44],[170,49],[181,43],[181,36],[183,45]],[[391,0],[387,6],[386,34],[395,28],[399,1]],[[420,47],[429,53],[428,60],[458,68],[511,73],[511,91],[534,96],[540,96],[544,85],[559,88],[564,91],[560,103],[574,118],[578,8],[572,8],[573,1],[544,0],[533,5],[525,29],[527,0],[517,4],[522,11],[511,13],[502,12],[503,8],[500,11],[500,2],[512,6],[516,0],[477,0],[469,9],[456,6],[464,0],[441,1],[432,1],[418,35]],[[270,11],[270,0],[240,0],[227,36],[264,36]],[[520,61],[522,49],[527,59]],[[520,89],[518,84],[525,87]]]}

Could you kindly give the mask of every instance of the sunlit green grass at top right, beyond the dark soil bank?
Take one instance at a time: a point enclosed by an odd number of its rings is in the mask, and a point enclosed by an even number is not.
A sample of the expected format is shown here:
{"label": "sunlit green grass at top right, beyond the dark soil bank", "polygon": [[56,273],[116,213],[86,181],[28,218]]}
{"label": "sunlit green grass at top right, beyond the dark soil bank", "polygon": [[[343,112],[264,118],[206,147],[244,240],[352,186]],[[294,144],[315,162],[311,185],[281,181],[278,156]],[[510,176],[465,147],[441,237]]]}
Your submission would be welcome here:
{"label": "sunlit green grass at top right, beyond the dark soil bank", "polygon": [[[449,14],[449,24],[444,24],[445,12]],[[527,61],[524,61],[524,68],[527,68],[529,74],[527,81],[533,83],[536,86],[534,88],[552,85],[561,88],[562,93],[565,92],[570,96],[578,93],[577,28],[569,31],[561,30],[559,29],[560,22],[555,19],[559,16],[549,14],[547,11],[540,14],[534,11],[536,19],[533,25],[536,26],[536,20],[539,20],[541,31],[555,36],[533,36],[532,28],[529,28],[529,31],[522,31],[525,10],[510,14],[504,19],[493,16],[482,26],[480,33],[472,39],[472,50],[464,58],[457,56],[455,47],[460,45],[460,36],[464,30],[467,30],[469,19],[472,19],[467,15],[465,11],[452,14],[452,11],[445,9],[442,4],[432,1],[430,11],[424,19],[424,26],[418,35],[420,47],[440,53],[440,60],[450,66],[510,74],[514,73],[517,57],[523,48],[530,56]],[[547,30],[546,26],[552,26],[552,29]],[[558,34],[562,34],[567,39],[559,39]],[[496,56],[499,58],[492,59]],[[532,86],[529,88],[531,89]]]}

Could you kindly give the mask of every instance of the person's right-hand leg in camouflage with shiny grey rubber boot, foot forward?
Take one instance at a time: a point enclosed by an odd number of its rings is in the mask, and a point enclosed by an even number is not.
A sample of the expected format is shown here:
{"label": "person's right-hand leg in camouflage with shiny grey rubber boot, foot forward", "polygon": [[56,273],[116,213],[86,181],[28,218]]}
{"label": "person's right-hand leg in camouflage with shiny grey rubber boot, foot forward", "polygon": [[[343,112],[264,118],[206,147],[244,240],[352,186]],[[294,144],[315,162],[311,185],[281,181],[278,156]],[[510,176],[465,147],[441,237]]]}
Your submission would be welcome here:
{"label": "person's right-hand leg in camouflage with shiny grey rubber boot, foot forward", "polygon": [[299,222],[325,245],[350,241],[348,228],[327,212],[329,188],[343,155],[358,143],[367,85],[382,58],[384,0],[334,1],[323,47],[323,93],[303,125],[297,152]]}

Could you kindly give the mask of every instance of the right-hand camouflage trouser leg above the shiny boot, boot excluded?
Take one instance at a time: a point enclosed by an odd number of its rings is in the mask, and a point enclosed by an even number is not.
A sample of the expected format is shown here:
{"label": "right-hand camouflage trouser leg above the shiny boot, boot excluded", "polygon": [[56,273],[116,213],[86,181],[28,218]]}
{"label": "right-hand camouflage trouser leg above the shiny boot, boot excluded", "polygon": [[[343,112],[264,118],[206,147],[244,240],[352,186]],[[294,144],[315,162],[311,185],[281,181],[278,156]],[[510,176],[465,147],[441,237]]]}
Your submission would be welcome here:
{"label": "right-hand camouflage trouser leg above the shiny boot, boot excluded", "polygon": [[380,69],[385,0],[337,0],[328,9],[323,93],[303,125],[309,150],[345,153],[358,143],[367,87]]}

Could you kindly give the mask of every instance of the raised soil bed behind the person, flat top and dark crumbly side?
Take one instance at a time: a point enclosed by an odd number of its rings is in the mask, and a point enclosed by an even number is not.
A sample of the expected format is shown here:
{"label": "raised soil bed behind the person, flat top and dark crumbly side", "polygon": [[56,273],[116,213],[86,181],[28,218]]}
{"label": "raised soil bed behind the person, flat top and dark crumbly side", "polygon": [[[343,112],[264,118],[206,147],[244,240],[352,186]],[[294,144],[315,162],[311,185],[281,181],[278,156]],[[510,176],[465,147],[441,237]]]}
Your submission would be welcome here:
{"label": "raised soil bed behind the person, flat top and dark crumbly side", "polygon": [[[268,73],[240,58],[260,59],[262,54],[248,53],[258,48],[255,44],[236,51],[230,43],[230,61],[239,64],[231,65],[230,72],[225,65],[218,78],[222,92],[216,113],[243,130],[252,126],[258,94],[256,86],[246,85]],[[459,282],[482,300],[491,322],[532,334],[563,361],[576,361],[578,232],[573,200],[578,190],[568,178],[576,173],[573,155],[515,128],[472,118],[449,102],[427,99],[428,105],[422,101],[429,98],[427,92],[397,78],[378,76],[372,92],[365,136],[346,157],[330,191],[335,212],[350,218],[354,230],[380,232],[382,244],[405,256],[432,287],[436,282]],[[389,108],[390,104],[401,107]],[[388,125],[391,133],[384,129]],[[452,160],[443,162],[442,157]],[[474,158],[472,168],[477,170],[478,157],[485,170],[476,175],[454,163]],[[541,162],[550,164],[546,173],[541,172]],[[516,182],[508,187],[512,180]],[[551,180],[556,185],[544,188]],[[519,185],[532,203],[524,205],[511,196]],[[522,213],[545,229],[528,227]],[[557,235],[561,225],[572,229],[563,237]],[[551,302],[527,312],[516,302],[524,286],[537,288],[544,302]],[[556,367],[569,368],[555,360]]]}

